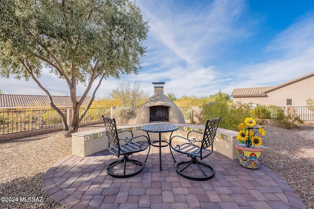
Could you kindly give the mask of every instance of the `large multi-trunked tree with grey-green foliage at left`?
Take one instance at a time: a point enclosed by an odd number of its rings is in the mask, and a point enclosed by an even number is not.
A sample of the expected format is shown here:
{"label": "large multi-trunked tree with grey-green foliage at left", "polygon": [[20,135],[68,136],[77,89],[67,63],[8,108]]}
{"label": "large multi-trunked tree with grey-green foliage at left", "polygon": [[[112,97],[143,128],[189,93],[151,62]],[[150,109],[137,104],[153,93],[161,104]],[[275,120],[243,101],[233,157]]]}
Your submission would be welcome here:
{"label": "large multi-trunked tree with grey-green foliage at left", "polygon": [[[1,0],[0,75],[33,79],[63,119],[64,131],[77,132],[103,79],[138,73],[146,48],[148,23],[129,0]],[[70,127],[38,78],[45,69],[69,87],[73,106]],[[91,91],[90,104],[79,108]],[[77,100],[77,84],[86,90]]]}

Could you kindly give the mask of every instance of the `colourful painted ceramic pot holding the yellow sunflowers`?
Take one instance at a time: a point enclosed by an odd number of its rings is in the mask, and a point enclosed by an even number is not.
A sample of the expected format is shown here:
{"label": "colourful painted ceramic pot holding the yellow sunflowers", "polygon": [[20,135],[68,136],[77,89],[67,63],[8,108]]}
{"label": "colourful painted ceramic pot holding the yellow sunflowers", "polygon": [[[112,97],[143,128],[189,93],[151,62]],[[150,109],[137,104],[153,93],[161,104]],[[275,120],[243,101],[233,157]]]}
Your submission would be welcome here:
{"label": "colourful painted ceramic pot holding the yellow sunflowers", "polygon": [[240,164],[245,168],[258,169],[261,163],[261,154],[264,150],[264,146],[260,145],[256,147],[246,147],[245,144],[235,142],[237,155],[239,157]]}

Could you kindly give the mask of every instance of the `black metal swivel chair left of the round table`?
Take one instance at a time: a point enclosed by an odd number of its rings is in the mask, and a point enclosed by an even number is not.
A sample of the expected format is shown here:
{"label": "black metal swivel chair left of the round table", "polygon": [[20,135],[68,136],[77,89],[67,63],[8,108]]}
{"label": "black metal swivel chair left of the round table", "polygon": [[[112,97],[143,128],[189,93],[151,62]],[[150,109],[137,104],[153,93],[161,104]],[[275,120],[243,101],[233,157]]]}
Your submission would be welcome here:
{"label": "black metal swivel chair left of the round table", "polygon": [[[104,118],[106,134],[109,141],[109,151],[118,158],[123,156],[121,160],[115,161],[108,165],[107,174],[115,178],[127,178],[139,174],[144,168],[144,163],[130,159],[129,156],[133,153],[144,151],[147,148],[150,150],[150,142],[148,137],[145,135],[133,137],[133,133],[130,130],[118,132],[114,118],[111,119],[105,116],[102,117]],[[130,132],[131,138],[119,139],[118,134],[122,132]],[[133,139],[140,137],[145,138],[144,140],[147,140],[147,145],[132,141]]]}

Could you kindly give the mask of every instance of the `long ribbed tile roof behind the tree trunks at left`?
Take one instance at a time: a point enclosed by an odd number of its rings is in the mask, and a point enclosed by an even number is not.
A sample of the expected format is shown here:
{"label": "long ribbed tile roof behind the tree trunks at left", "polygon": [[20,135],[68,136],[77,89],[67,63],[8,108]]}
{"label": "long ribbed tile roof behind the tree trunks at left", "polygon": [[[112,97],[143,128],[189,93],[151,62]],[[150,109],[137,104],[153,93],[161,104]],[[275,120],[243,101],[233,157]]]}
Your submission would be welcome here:
{"label": "long ribbed tile roof behind the tree trunks at left", "polygon": [[[81,97],[78,96],[77,100]],[[53,103],[57,107],[72,107],[70,96],[52,96]],[[86,97],[82,106],[87,106],[91,97]],[[18,109],[18,108],[43,108],[50,107],[47,95],[16,95],[0,94],[0,109]]]}

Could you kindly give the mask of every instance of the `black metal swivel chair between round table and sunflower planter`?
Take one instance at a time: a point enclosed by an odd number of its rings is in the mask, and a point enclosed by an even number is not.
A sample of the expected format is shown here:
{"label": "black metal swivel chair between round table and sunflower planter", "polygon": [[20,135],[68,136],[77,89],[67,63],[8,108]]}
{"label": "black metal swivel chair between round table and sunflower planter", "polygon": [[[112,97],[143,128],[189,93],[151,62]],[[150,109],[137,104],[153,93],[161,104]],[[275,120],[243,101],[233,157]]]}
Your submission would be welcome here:
{"label": "black metal swivel chair between round table and sunflower planter", "polygon": [[[220,119],[221,117],[211,120],[208,119],[204,134],[198,131],[190,131],[186,138],[182,136],[173,136],[170,139],[170,152],[171,149],[173,149],[174,151],[185,154],[191,158],[190,161],[182,161],[176,165],[176,170],[179,175],[195,181],[205,181],[214,176],[214,169],[209,164],[198,161],[197,158],[200,158],[202,161],[213,152],[213,141]],[[189,139],[192,135],[194,136],[198,134],[203,135],[202,140],[196,140],[195,138]],[[177,144],[178,141],[181,141],[181,144]],[[173,143],[176,143],[176,145],[174,146]]]}

